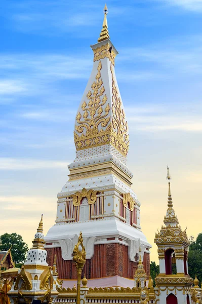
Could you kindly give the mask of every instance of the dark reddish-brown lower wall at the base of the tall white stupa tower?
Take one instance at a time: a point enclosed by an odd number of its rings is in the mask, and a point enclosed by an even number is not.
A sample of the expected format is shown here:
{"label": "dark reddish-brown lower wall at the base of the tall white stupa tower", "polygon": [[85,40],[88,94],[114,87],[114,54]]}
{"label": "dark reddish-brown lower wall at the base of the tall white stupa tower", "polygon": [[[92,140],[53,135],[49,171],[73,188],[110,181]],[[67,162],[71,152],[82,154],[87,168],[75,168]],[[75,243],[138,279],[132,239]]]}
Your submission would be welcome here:
{"label": "dark reddish-brown lower wall at the base of the tall white stupa tower", "polygon": [[[57,255],[57,270],[60,279],[77,279],[75,264],[72,260],[62,258],[61,248],[47,248],[47,262],[53,265],[54,255]],[[87,279],[96,279],[112,276],[120,276],[133,279],[137,262],[129,260],[128,247],[125,245],[110,243],[95,245],[94,255],[86,260],[83,275]],[[147,276],[150,273],[149,254],[144,253],[144,269]]]}

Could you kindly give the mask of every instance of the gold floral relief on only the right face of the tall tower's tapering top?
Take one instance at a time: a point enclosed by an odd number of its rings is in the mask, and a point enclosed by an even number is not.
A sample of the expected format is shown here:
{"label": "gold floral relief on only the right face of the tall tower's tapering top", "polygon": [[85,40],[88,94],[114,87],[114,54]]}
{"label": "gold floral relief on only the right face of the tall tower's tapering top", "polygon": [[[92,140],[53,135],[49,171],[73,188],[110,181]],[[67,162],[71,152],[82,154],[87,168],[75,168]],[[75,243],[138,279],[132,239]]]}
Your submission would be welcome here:
{"label": "gold floral relief on only the right face of the tall tower's tapering top", "polygon": [[[128,134],[128,124],[125,122],[125,111],[122,108],[122,102],[119,97],[118,89],[115,86],[113,68],[111,64],[111,76],[112,76],[112,126],[114,132],[111,136],[114,137],[115,147],[123,153],[125,156],[129,149],[129,134]],[[115,136],[114,136],[115,134]]]}

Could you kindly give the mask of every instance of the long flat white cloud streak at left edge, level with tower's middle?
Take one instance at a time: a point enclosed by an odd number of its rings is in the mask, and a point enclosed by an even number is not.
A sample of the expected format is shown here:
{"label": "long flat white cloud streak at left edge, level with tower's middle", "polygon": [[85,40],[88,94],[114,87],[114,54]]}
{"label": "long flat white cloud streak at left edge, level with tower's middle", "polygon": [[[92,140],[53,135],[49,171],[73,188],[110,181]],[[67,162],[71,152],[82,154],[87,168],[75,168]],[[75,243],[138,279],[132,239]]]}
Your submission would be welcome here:
{"label": "long flat white cloud streak at left edge, level with tower's middle", "polygon": [[0,170],[34,170],[34,169],[52,169],[67,168],[69,162],[46,161],[34,159],[0,158]]}

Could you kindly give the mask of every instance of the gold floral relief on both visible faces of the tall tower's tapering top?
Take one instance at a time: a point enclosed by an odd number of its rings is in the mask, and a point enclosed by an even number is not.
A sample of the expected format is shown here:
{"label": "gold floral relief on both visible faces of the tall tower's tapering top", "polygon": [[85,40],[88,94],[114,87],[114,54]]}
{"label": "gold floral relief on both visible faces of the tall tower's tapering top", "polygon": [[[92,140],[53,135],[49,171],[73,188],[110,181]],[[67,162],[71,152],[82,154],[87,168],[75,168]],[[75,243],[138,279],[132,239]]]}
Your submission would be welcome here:
{"label": "gold floral relief on both visible faces of the tall tower's tapering top", "polygon": [[[109,46],[107,46],[107,48],[108,47]],[[113,54],[113,52],[108,53],[110,56]],[[95,55],[96,60],[98,60],[99,56],[97,57],[97,55]],[[126,157],[129,149],[128,125],[125,121],[122,101],[120,100],[119,92],[115,85],[112,63],[110,67],[112,75],[112,117],[109,115],[109,103],[105,108],[103,107],[107,101],[107,96],[106,94],[103,96],[105,88],[101,79],[101,68],[102,64],[100,61],[97,68],[96,82],[91,86],[92,91],[89,91],[87,94],[89,100],[88,105],[86,101],[84,101],[82,104],[83,112],[80,113],[78,111],[76,116],[77,124],[75,125],[74,131],[76,150],[111,143]],[[100,126],[104,129],[100,129]],[[81,136],[79,136],[80,133],[82,133]]]}

